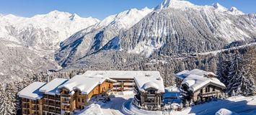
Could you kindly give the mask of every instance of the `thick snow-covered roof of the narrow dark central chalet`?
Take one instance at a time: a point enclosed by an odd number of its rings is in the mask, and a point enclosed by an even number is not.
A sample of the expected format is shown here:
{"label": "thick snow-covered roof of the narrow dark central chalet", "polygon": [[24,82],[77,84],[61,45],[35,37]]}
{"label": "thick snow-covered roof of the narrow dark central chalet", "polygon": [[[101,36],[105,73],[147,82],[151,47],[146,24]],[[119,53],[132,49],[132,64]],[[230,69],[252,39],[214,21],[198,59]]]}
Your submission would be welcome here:
{"label": "thick snow-covered roof of the narrow dark central chalet", "polygon": [[138,90],[146,91],[149,88],[154,88],[158,93],[164,93],[164,82],[160,73],[154,75],[144,75],[134,77],[134,80],[138,86]]}

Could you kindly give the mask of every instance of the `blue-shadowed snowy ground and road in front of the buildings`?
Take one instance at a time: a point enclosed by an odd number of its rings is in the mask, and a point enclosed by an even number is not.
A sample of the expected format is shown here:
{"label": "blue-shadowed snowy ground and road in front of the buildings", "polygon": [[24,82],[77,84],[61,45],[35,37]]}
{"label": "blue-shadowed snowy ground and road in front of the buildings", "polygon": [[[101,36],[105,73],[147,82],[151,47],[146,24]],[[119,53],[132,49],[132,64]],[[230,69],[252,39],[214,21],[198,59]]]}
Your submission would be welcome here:
{"label": "blue-shadowed snowy ground and road in front of the buildings", "polygon": [[[176,103],[178,100],[178,89],[175,87],[166,88],[167,96],[175,97]],[[226,114],[242,114],[251,115],[256,114],[256,96],[244,97],[234,96],[219,101],[211,101],[208,103],[199,104],[196,106],[182,109],[182,111],[144,111],[136,108],[131,104],[133,95],[127,93],[126,95],[115,95],[111,98],[110,102],[92,104],[85,109],[82,114],[87,115],[123,115],[123,114],[136,114],[136,115],[185,115],[185,114],[199,114],[199,115],[218,115]],[[171,99],[172,101],[172,99]],[[173,101],[172,101],[173,102]],[[166,100],[165,100],[166,103]],[[122,107],[123,106],[123,107]]]}

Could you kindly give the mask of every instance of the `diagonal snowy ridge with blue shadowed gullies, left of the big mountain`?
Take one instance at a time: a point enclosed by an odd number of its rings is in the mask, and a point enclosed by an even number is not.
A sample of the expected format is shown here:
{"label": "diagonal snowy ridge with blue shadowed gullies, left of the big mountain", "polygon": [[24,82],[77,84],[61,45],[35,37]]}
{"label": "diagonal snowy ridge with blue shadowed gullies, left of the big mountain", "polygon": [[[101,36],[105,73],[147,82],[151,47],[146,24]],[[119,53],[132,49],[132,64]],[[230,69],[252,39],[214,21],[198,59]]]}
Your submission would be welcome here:
{"label": "diagonal snowy ridge with blue shadowed gullies, left of the big mountain", "polygon": [[[153,9],[129,9],[119,14],[111,15],[92,27],[83,29],[69,37],[61,44],[56,54],[58,62],[77,60],[100,50],[120,32],[133,27]],[[66,60],[69,58],[68,60]]]}

